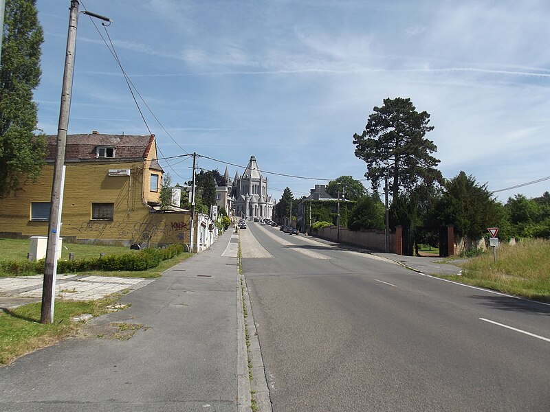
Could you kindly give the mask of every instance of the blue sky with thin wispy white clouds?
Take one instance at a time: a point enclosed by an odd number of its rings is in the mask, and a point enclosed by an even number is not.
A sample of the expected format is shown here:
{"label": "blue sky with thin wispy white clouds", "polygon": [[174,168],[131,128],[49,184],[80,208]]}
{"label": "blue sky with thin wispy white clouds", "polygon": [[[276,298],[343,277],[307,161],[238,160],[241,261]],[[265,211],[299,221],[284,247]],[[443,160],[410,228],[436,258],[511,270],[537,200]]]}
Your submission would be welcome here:
{"label": "blue sky with thin wispy white clouds", "polygon": [[[56,134],[70,1],[36,5],[38,127]],[[353,134],[401,97],[430,113],[445,179],[464,171],[502,202],[550,190],[547,0],[82,0],[83,10],[112,22],[106,32],[79,16],[68,133],[151,131],[159,158],[174,157],[160,161],[173,183],[190,180],[179,156],[196,152],[197,167],[231,177],[255,156],[277,201],[285,187],[299,198],[342,175],[369,188]]]}

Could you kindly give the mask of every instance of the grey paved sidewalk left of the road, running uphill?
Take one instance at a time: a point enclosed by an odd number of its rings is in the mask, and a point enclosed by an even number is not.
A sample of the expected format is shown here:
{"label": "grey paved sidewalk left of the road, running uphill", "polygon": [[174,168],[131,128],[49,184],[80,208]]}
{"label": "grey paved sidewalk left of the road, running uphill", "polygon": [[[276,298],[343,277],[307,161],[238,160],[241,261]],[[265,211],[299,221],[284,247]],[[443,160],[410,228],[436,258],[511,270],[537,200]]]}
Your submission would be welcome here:
{"label": "grey paved sidewalk left of the road, running uphill", "polygon": [[246,410],[235,236],[123,295],[130,308],[88,322],[140,328],[130,339],[65,339],[0,367],[0,410]]}

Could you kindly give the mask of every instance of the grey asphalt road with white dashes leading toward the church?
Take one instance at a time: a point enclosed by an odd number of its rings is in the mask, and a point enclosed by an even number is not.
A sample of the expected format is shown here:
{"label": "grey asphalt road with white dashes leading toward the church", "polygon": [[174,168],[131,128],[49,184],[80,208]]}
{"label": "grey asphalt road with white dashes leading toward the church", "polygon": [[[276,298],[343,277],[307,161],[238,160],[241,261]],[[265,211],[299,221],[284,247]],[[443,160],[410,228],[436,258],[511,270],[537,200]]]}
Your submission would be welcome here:
{"label": "grey asphalt road with white dashes leading toward the church", "polygon": [[275,412],[550,411],[550,306],[243,232]]}

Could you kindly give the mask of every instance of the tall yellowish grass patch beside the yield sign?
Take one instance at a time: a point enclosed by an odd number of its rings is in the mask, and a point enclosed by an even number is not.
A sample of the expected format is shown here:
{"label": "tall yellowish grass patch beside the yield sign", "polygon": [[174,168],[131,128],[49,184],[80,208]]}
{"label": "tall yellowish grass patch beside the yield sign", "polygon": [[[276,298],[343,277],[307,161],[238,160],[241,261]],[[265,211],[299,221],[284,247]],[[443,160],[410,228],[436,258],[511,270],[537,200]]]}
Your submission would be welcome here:
{"label": "tall yellowish grass patch beside the yield sign", "polygon": [[550,241],[526,239],[514,246],[503,244],[462,265],[456,282],[481,286],[527,299],[550,302]]}

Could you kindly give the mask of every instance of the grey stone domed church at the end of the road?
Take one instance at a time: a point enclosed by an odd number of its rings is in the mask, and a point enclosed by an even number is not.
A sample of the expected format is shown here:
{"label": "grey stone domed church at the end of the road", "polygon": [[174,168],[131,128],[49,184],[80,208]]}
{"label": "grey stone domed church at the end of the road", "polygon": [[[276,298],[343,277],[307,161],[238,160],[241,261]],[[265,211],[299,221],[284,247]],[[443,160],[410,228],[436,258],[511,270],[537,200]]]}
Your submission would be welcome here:
{"label": "grey stone domed church at the end of the road", "polygon": [[275,199],[267,194],[267,178],[262,176],[256,157],[251,156],[242,175],[235,173],[233,180],[225,169],[225,182],[230,188],[234,216],[247,220],[273,218]]}

